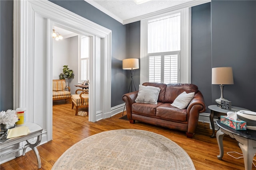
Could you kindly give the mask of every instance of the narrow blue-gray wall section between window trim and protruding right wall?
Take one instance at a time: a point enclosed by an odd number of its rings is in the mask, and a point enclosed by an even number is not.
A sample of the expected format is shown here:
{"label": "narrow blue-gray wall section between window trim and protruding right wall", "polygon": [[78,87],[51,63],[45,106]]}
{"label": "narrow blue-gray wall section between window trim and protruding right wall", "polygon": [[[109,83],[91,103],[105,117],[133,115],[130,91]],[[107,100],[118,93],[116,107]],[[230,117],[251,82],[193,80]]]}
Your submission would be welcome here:
{"label": "narrow blue-gray wall section between window trim and protruding right wall", "polygon": [[[212,104],[211,3],[191,10],[191,83],[204,96],[206,106]],[[210,113],[210,110],[206,110]]]}

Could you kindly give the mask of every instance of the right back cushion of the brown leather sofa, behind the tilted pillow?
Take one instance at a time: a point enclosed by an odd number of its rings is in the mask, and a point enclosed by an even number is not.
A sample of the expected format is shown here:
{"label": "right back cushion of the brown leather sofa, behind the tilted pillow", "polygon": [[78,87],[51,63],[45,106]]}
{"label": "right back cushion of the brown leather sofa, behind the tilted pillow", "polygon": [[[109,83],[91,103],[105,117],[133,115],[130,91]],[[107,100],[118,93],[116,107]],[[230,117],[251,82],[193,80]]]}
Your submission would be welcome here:
{"label": "right back cushion of the brown leather sofa, behind the tilted pillow", "polygon": [[177,96],[184,91],[186,93],[195,92],[196,94],[198,92],[198,87],[194,84],[167,84],[163,103],[173,103]]}

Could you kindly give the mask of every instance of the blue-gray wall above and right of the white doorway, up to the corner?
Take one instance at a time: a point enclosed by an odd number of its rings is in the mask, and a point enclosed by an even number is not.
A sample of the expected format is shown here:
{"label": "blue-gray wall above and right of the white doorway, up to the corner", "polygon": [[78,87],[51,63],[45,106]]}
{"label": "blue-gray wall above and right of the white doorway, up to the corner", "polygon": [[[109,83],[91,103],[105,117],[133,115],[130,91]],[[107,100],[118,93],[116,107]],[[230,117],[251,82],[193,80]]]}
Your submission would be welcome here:
{"label": "blue-gray wall above and right of the white doorway, up to the corner", "polygon": [[128,47],[126,25],[122,25],[84,0],[54,0],[51,2],[112,30],[111,107],[124,103],[122,95],[128,90],[124,88],[128,82],[122,70],[122,60],[127,58]]}

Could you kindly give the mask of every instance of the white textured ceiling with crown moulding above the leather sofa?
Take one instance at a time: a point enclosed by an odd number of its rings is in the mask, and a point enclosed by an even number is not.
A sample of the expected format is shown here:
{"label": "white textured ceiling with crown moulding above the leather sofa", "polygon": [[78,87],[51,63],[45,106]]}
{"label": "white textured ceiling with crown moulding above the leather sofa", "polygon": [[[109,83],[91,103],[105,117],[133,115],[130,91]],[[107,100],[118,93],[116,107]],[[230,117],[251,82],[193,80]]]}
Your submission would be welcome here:
{"label": "white textured ceiling with crown moulding above the leather sofa", "polygon": [[134,0],[85,1],[123,24],[210,2],[210,0],[149,0],[136,4]]}

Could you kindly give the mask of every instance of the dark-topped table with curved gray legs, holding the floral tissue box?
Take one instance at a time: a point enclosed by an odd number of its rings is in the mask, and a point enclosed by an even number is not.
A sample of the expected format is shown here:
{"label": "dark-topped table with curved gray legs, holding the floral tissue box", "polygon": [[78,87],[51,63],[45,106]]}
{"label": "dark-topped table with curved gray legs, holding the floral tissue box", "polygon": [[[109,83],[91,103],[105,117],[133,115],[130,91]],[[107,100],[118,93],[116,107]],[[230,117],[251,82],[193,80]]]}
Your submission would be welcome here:
{"label": "dark-topped table with curved gray legs, holding the floral tissue box", "polygon": [[223,137],[224,135],[229,135],[230,137],[236,139],[239,143],[239,147],[242,150],[244,156],[244,168],[245,170],[252,169],[252,160],[254,154],[256,154],[256,131],[254,130],[240,130],[237,131],[220,123],[220,120],[216,121],[220,129],[216,133],[216,138],[218,146],[220,149],[220,154],[217,156],[219,160],[223,157]]}

